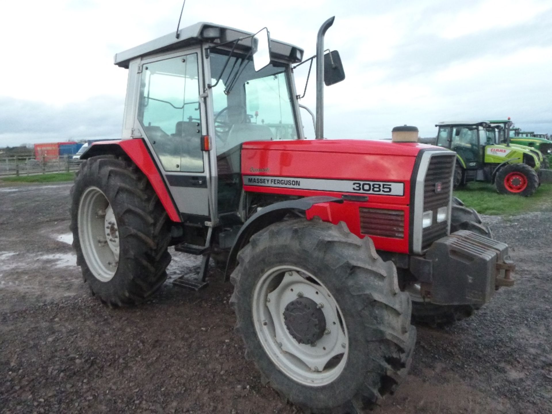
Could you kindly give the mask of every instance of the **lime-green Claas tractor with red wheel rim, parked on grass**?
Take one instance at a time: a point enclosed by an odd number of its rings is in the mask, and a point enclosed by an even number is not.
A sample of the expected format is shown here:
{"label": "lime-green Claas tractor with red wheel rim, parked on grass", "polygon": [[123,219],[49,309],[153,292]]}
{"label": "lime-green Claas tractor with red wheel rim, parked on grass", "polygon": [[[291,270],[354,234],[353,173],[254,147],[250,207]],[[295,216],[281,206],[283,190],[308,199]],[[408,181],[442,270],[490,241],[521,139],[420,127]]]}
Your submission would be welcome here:
{"label": "lime-green Claas tractor with red wheel rim, parked on grass", "polygon": [[436,145],[457,153],[455,188],[483,181],[495,184],[501,194],[524,197],[539,188],[539,156],[525,148],[496,144],[494,136],[487,137],[490,123],[441,122],[436,126]]}

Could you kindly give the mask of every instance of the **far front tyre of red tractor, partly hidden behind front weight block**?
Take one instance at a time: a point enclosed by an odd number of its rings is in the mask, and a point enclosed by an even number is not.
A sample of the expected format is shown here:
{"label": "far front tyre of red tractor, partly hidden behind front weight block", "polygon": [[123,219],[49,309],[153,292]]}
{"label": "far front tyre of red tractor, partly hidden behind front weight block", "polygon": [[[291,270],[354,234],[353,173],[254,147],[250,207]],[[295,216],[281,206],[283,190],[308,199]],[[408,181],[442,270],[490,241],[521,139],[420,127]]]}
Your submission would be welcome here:
{"label": "far front tyre of red tractor, partly hidden behind front weight block", "polygon": [[[481,236],[491,237],[489,226],[483,224],[481,217],[474,209],[467,208],[461,200],[453,197],[450,215],[450,233],[458,230],[469,230]],[[474,314],[480,306],[475,305],[436,305],[425,302],[419,286],[413,286],[409,291],[412,300],[412,322],[431,327],[452,325]]]}

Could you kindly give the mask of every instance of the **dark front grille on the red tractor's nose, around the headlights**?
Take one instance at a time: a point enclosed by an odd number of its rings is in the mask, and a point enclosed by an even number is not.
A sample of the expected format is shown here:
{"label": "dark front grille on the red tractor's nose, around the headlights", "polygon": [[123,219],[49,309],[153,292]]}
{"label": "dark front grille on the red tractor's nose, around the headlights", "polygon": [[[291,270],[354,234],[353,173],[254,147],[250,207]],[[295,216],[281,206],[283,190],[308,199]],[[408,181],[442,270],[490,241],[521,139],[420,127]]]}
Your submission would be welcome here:
{"label": "dark front grille on the red tractor's nose, around the headlights", "polygon": [[423,229],[422,249],[431,246],[431,243],[448,233],[448,220],[438,223],[437,209],[449,204],[455,160],[456,155],[451,153],[434,155],[429,161],[423,185],[423,211],[433,211],[433,224]]}

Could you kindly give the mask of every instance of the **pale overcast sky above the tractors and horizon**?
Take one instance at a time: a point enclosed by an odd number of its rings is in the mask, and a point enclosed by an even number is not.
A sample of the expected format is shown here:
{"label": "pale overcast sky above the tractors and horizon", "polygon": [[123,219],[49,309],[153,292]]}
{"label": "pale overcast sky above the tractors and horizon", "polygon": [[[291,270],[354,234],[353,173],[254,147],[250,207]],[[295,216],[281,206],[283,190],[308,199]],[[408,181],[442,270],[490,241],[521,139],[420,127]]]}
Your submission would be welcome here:
{"label": "pale overcast sky above the tractors and horizon", "polygon": [[[5,2],[0,146],[119,137],[126,70],[113,55],[174,31],[181,6]],[[325,89],[327,137],[380,139],[403,124],[434,136],[438,121],[506,116],[524,130],[552,132],[550,0],[187,0],[181,26],[267,26],[311,56],[332,15],[326,47],[339,50],[346,79]],[[298,90],[305,66],[296,73]],[[311,81],[301,103],[314,110]]]}

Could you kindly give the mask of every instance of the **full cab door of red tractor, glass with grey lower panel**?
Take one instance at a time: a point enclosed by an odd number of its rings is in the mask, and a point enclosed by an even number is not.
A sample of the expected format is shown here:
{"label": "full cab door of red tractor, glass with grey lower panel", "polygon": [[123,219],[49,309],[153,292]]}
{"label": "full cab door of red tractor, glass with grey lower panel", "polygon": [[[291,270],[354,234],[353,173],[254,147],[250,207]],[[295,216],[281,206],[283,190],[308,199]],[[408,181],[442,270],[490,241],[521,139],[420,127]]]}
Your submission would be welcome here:
{"label": "full cab door of red tractor, glass with grey lower panel", "polygon": [[209,216],[200,53],[191,49],[142,61],[136,121],[181,214]]}

